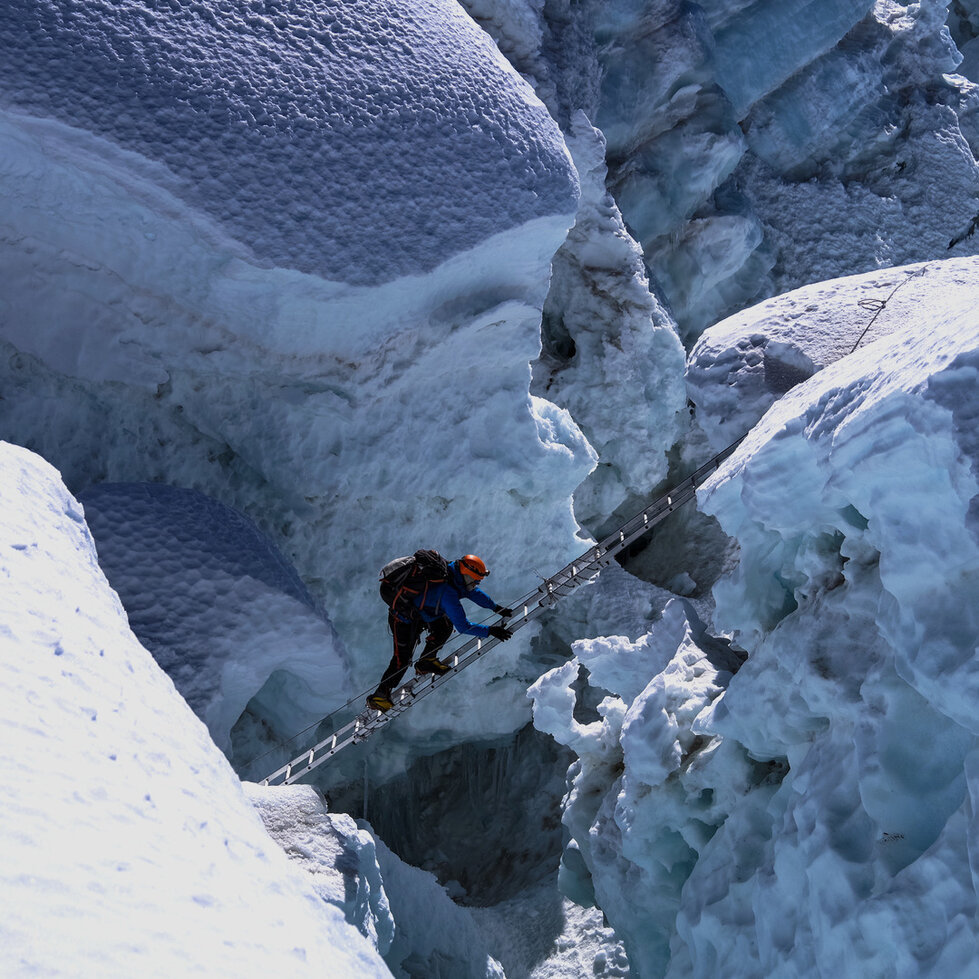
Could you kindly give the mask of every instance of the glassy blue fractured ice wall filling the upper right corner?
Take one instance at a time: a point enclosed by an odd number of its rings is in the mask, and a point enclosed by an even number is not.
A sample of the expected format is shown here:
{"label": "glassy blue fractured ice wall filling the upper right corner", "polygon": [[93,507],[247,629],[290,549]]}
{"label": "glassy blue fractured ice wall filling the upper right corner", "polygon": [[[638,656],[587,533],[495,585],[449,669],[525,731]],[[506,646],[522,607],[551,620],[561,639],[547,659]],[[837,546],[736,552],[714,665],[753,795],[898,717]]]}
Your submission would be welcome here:
{"label": "glassy blue fractured ice wall filling the upper right corner", "polygon": [[948,6],[622,0],[582,14],[609,185],[688,344],[765,296],[975,250],[976,88],[950,74]]}

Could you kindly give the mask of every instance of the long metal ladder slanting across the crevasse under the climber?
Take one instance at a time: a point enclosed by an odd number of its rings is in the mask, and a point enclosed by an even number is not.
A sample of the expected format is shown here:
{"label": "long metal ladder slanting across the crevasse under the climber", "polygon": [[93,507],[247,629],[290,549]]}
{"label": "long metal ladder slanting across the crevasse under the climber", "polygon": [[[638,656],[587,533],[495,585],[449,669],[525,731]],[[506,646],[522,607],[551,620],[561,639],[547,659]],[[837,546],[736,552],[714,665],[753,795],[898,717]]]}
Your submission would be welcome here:
{"label": "long metal ladder slanting across the crevasse under the climber", "polygon": [[[618,530],[589,548],[579,558],[565,565],[557,574],[545,578],[534,591],[524,595],[513,605],[513,616],[507,619],[507,628],[511,632],[516,632],[528,622],[541,616],[560,599],[570,595],[579,585],[595,578],[603,568],[612,563],[616,554],[668,517],[677,507],[693,499],[700,484],[718,469],[744,438],[745,436],[742,436],[736,442],[732,442],[683,482],[627,520]],[[442,676],[423,674],[413,677],[391,694],[394,706],[389,710],[383,713],[371,708],[362,710],[349,724],[272,772],[262,779],[261,784],[290,785],[323,762],[329,761],[344,748],[366,741],[386,724],[400,717],[413,704],[418,703],[419,700],[448,683],[457,673],[485,656],[499,642],[500,640],[492,637],[470,639],[453,652],[448,673]]]}

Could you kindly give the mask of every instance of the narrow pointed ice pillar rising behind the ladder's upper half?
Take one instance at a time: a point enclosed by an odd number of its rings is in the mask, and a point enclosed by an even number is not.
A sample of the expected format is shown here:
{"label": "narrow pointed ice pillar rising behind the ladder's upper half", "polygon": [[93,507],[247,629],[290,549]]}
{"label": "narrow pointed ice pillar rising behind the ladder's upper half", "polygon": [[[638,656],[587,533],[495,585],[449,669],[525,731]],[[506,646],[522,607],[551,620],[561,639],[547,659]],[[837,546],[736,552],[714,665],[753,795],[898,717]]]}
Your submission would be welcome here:
{"label": "narrow pointed ice pillar rising behind the ladder's upper half", "polygon": [[601,460],[575,491],[576,516],[601,536],[624,501],[666,476],[682,429],[684,355],[605,188],[602,134],[578,112],[568,141],[582,193],[552,265],[533,390],[569,409]]}

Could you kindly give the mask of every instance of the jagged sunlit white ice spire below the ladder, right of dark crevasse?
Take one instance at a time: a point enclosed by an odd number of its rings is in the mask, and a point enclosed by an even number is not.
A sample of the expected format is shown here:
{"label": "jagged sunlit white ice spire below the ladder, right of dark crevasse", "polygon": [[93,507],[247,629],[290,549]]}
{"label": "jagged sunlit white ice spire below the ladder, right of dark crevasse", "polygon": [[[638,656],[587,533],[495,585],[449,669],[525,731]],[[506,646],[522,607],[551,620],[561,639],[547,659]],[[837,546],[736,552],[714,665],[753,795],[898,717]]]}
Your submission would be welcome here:
{"label": "jagged sunlit white ice spire below the ladder, right of dark crevasse", "polygon": [[[684,881],[751,776],[740,746],[696,727],[738,657],[698,646],[676,600],[636,641],[611,636],[572,648],[570,662],[528,691],[535,726],[578,756],[562,817],[570,843],[561,888],[602,908],[636,974],[662,975]],[[572,686],[581,669],[593,699],[604,693],[587,722],[576,718],[582,691]]]}

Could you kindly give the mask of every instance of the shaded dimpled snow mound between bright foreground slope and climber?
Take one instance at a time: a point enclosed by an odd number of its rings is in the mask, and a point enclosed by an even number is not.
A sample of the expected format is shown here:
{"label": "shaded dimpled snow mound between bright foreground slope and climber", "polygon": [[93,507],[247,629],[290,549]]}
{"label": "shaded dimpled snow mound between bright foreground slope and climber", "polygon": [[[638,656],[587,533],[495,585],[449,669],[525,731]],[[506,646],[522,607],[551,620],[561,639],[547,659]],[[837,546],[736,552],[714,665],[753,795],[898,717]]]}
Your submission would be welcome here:
{"label": "shaded dimpled snow mound between bright foreground slope and climber", "polygon": [[263,716],[281,737],[346,693],[342,644],[243,514],[159,483],[103,483],[79,501],[133,632],[221,748],[273,673]]}

